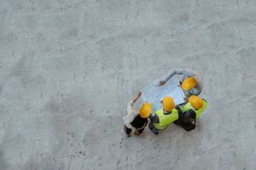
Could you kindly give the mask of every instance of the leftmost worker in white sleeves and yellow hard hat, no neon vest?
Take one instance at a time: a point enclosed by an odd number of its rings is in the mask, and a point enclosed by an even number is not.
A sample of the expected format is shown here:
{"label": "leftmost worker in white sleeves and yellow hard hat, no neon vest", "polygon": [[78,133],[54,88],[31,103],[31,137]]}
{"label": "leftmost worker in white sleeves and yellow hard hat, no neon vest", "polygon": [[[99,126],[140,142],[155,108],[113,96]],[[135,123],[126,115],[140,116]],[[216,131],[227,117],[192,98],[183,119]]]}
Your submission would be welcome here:
{"label": "leftmost worker in white sleeves and yellow hard hat, no neon vest", "polygon": [[152,111],[152,105],[144,103],[140,111],[136,111],[133,108],[134,103],[141,95],[142,93],[138,92],[137,97],[131,99],[127,105],[127,115],[123,117],[125,123],[124,130],[127,137],[130,137],[132,129],[135,129],[135,135],[140,135],[148,124],[148,116]]}

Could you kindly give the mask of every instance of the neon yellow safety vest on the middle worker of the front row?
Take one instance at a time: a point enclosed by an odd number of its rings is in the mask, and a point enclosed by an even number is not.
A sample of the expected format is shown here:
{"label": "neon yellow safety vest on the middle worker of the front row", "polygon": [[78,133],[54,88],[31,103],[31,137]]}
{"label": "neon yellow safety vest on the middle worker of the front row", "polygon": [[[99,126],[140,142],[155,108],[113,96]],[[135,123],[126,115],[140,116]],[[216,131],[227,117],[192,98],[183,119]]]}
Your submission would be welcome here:
{"label": "neon yellow safety vest on the middle worker of the front row", "polygon": [[155,114],[159,118],[159,123],[153,123],[154,127],[159,129],[159,130],[164,130],[166,127],[168,127],[172,122],[177,121],[178,119],[178,114],[177,110],[173,109],[172,113],[165,115],[164,111],[158,110],[155,111]]}

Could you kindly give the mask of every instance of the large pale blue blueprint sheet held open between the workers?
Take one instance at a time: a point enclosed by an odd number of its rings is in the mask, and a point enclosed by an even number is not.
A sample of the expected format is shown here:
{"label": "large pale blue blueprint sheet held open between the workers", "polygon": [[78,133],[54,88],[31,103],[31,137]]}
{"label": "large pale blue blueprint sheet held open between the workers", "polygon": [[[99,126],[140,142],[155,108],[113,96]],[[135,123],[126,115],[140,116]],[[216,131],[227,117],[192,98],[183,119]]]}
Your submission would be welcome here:
{"label": "large pale blue blueprint sheet held open between the workers", "polygon": [[160,101],[166,96],[171,96],[174,99],[175,105],[184,103],[185,95],[183,89],[178,87],[179,81],[177,75],[170,78],[163,86],[158,86],[160,80],[161,78],[151,82],[142,90],[143,101],[151,103],[153,105],[153,111],[162,108]]}

